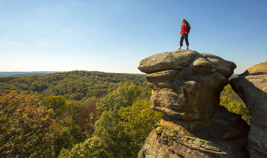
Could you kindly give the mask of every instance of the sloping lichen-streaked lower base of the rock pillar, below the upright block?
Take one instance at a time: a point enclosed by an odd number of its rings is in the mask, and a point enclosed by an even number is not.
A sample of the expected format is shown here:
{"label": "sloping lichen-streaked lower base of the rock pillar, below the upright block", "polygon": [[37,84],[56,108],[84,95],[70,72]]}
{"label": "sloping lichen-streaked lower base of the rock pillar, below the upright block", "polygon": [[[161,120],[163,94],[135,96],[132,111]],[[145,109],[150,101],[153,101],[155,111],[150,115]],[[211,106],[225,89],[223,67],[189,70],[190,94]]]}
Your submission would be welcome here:
{"label": "sloping lichen-streaked lower base of the rock pillar, below the upright block", "polygon": [[163,116],[139,151],[139,158],[248,157],[246,123],[224,107],[219,109],[214,118],[205,120],[181,121]]}

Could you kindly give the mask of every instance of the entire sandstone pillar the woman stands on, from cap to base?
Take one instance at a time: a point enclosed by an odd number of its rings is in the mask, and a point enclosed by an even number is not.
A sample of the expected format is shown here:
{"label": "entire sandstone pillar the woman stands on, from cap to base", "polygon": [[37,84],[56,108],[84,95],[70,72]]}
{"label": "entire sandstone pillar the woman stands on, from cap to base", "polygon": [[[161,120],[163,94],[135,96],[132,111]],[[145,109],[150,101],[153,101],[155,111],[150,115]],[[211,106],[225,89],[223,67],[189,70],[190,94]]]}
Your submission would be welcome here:
{"label": "entire sandstone pillar the woman stands on, from cap to base", "polygon": [[213,54],[176,50],[140,61],[152,88],[150,108],[165,115],[139,152],[150,157],[248,157],[249,126],[219,106],[236,65]]}

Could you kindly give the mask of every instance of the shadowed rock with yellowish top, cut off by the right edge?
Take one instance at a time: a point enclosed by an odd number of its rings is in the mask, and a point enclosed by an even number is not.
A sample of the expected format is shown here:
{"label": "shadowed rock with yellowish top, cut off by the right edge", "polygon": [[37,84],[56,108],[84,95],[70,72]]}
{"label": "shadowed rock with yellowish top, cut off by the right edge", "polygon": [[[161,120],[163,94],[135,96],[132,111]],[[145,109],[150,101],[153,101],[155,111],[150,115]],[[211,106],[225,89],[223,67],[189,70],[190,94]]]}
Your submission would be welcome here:
{"label": "shadowed rock with yellowish top, cut off by the right edge", "polygon": [[267,61],[247,69],[230,80],[232,89],[249,110],[249,156],[267,157]]}

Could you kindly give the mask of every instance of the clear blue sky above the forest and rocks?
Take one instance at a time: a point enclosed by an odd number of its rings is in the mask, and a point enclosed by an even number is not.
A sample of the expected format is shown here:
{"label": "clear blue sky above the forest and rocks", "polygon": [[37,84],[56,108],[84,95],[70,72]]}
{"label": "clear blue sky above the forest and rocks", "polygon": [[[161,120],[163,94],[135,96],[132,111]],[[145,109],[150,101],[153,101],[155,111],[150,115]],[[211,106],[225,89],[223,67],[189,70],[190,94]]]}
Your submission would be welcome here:
{"label": "clear blue sky above the forest and rocks", "polygon": [[[267,61],[267,1],[0,0],[0,71],[142,73],[139,61],[179,48],[236,63]],[[182,49],[185,49],[185,42]]]}

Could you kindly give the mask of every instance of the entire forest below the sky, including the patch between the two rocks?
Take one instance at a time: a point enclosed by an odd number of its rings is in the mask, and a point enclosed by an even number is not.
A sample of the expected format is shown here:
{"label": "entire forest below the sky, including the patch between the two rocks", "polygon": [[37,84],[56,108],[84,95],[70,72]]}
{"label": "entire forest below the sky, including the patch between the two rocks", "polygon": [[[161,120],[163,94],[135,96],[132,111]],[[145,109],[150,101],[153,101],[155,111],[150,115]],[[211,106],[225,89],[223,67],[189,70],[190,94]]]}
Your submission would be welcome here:
{"label": "entire forest below the sky, including the patch between the two rocks", "polygon": [[[249,124],[231,86],[221,105]],[[145,75],[70,71],[0,78],[1,157],[137,157],[163,113]]]}

